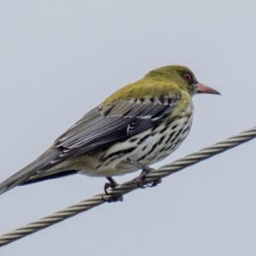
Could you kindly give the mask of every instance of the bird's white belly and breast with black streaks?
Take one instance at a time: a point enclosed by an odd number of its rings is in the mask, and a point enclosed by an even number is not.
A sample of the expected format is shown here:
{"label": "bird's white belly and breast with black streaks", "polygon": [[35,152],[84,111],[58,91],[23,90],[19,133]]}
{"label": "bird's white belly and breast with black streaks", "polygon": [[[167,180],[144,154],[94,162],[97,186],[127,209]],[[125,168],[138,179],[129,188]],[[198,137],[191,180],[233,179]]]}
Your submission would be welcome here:
{"label": "bird's white belly and breast with black streaks", "polygon": [[163,160],[188,136],[191,124],[192,116],[183,116],[170,125],[164,122],[154,130],[149,129],[125,142],[115,143],[98,154],[94,169],[100,176],[117,176],[137,171],[137,167],[126,162],[127,158],[145,165]]}

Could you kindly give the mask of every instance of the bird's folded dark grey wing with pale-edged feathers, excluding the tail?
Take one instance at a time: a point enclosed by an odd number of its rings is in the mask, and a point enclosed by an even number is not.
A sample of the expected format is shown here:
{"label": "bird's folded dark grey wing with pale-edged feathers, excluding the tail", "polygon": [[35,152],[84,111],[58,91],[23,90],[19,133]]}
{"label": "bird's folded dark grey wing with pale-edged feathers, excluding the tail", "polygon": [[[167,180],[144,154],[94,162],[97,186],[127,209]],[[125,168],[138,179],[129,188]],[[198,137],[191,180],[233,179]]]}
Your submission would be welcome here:
{"label": "bird's folded dark grey wing with pale-edged feathers, excluding the tail", "polygon": [[172,113],[179,100],[180,96],[161,96],[94,108],[55,141],[55,147],[62,150],[54,162],[72,159],[154,127]]}

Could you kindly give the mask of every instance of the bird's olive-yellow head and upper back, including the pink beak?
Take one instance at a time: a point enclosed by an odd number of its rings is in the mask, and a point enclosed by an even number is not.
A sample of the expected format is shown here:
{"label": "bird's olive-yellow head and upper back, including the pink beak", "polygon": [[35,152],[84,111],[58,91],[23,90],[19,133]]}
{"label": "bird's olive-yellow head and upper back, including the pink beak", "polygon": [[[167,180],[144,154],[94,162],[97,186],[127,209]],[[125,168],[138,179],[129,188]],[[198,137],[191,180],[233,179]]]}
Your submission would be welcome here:
{"label": "bird's olive-yellow head and upper back, including the pink beak", "polygon": [[195,74],[188,67],[170,65],[154,69],[143,79],[117,90],[102,105],[133,98],[172,97],[179,95],[181,90],[188,96],[196,93],[220,94],[217,90],[198,83]]}

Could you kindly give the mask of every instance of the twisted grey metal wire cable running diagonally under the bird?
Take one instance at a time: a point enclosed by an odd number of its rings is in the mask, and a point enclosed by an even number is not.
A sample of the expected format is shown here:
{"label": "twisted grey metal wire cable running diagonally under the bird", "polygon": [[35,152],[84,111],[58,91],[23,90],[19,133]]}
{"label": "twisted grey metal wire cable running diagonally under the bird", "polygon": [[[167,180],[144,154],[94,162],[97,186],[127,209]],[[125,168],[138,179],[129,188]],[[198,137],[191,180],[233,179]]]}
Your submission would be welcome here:
{"label": "twisted grey metal wire cable running diagonally under the bird", "polygon": [[[145,183],[154,182],[162,177],[169,176],[174,172],[179,172],[188,166],[195,165],[201,160],[206,160],[213,155],[223,153],[224,151],[241,145],[241,143],[246,143],[255,137],[256,126],[247,131],[242,131],[240,134],[237,134],[234,137],[230,137],[224,141],[215,143],[210,147],[202,148],[200,151],[189,154],[179,160],[175,160],[169,165],[161,166],[159,169],[149,172],[145,179]],[[3,234],[3,236],[0,236],[0,247],[3,247],[4,245],[7,245],[10,242],[23,238],[25,236],[31,235],[38,230],[48,228],[52,224],[59,223],[62,220],[71,218],[81,212],[88,211],[93,207],[100,206],[105,203],[106,200],[108,200],[108,198],[110,198],[112,195],[125,195],[135,189],[137,189],[136,178],[126,183],[119,184],[119,186],[109,192],[109,195],[106,195],[105,193],[94,195],[87,200],[80,201],[79,203],[74,204],[73,206],[67,207],[44,218],[40,218],[39,220],[34,221],[30,224],[26,224],[25,226],[17,230],[13,230],[9,233]]]}

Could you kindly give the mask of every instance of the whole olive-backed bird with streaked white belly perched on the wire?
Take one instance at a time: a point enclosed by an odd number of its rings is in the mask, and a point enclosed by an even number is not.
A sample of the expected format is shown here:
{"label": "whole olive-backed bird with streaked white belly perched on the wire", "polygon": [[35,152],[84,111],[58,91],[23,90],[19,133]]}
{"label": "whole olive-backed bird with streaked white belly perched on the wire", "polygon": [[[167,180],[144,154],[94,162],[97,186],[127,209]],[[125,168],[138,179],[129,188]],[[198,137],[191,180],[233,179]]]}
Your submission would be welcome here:
{"label": "whole olive-backed bird with streaked white belly perched on the wire", "polygon": [[[107,177],[104,190],[118,183],[114,176],[142,169],[137,186],[188,136],[195,94],[218,94],[180,65],[149,71],[125,85],[86,113],[58,137],[38,159],[0,183],[0,195],[18,185],[81,173]],[[156,183],[152,183],[155,185]]]}

